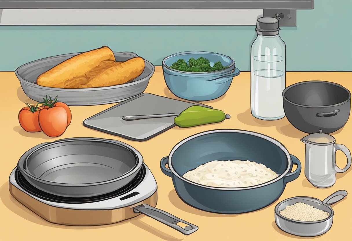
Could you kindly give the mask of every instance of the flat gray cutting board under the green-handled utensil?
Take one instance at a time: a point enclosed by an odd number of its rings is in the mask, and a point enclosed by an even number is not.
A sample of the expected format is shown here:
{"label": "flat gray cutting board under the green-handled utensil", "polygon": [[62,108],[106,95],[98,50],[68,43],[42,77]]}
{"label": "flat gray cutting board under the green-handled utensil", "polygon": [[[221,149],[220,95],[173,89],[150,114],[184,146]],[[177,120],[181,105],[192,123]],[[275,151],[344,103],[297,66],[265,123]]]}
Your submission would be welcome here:
{"label": "flat gray cutting board under the green-handled utensil", "polygon": [[174,117],[125,121],[122,116],[181,113],[188,107],[203,105],[143,93],[125,100],[83,121],[83,125],[107,134],[121,136],[133,141],[146,141],[175,126]]}

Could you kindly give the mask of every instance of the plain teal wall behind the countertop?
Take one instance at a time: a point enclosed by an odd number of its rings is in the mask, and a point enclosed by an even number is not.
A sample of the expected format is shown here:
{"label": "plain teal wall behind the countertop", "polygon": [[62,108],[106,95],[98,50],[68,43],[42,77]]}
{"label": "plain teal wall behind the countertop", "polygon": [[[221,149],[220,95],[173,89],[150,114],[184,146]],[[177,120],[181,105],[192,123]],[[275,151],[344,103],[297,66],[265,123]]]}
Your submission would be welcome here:
{"label": "plain teal wall behind the countertop", "polygon": [[[314,10],[297,10],[297,27],[280,31],[287,71],[352,71],[351,9],[351,0],[315,0]],[[176,52],[218,52],[248,71],[255,37],[254,26],[0,26],[0,70],[107,45],[155,65]]]}

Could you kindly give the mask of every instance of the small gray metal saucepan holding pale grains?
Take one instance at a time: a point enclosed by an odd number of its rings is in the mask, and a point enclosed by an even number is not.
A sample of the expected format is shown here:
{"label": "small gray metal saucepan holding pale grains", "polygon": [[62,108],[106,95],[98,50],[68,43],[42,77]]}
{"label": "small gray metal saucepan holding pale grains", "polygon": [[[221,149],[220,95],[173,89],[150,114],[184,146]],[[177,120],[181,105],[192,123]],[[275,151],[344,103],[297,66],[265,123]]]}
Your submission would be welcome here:
{"label": "small gray metal saucepan holding pale grains", "polygon": [[[275,223],[286,233],[303,237],[314,237],[325,234],[332,226],[334,210],[330,205],[339,202],[347,196],[345,190],[334,192],[329,197],[320,201],[313,197],[293,197],[283,200],[275,206]],[[299,221],[284,217],[280,211],[295,203],[306,203],[317,209],[328,212],[329,216],[319,221]]]}

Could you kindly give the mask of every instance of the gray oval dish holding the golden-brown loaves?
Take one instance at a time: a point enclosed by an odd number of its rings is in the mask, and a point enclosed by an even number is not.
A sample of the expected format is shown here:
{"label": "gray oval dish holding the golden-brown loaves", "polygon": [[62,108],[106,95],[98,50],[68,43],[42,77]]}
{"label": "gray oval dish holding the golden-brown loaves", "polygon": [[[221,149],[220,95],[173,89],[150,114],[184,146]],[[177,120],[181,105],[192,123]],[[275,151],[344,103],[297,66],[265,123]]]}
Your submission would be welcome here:
{"label": "gray oval dish holding the golden-brown loaves", "polygon": [[[100,105],[117,103],[141,94],[147,87],[155,67],[149,61],[145,61],[143,73],[136,79],[122,85],[114,85],[98,88],[52,88],[37,85],[37,78],[57,64],[80,53],[57,55],[26,63],[15,70],[17,78],[25,94],[36,101],[42,101],[46,94],[67,105]],[[138,55],[132,52],[114,52],[116,61],[126,61]]]}

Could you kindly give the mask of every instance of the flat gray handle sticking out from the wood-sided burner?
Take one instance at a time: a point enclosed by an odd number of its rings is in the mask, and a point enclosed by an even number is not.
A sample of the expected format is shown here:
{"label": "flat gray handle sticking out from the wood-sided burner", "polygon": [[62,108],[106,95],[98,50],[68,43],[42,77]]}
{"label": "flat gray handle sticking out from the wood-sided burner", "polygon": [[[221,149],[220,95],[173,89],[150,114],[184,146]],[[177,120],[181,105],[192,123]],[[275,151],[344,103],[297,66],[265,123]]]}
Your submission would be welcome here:
{"label": "flat gray handle sticking out from the wood-sided burner", "polygon": [[[154,218],[155,220],[162,222],[168,225],[169,227],[176,229],[177,231],[180,231],[181,233],[186,235],[194,233],[195,231],[198,230],[198,227],[196,225],[186,222],[178,217],[175,217],[172,214],[169,214],[168,212],[154,208],[148,204],[138,205],[133,208],[133,211],[137,213],[141,212],[142,214],[145,214],[148,217]],[[177,225],[177,223],[179,222],[188,224],[188,225],[182,228],[181,226]]]}

